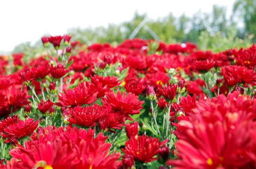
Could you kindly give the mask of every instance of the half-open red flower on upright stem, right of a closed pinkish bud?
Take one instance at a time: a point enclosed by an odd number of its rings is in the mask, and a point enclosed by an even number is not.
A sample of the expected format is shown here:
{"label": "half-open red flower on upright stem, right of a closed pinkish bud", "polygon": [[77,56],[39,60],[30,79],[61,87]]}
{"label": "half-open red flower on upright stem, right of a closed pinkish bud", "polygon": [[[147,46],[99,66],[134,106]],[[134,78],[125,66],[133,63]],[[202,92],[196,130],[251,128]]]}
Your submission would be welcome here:
{"label": "half-open red flower on upright stem, right of a closed pinkish bud", "polygon": [[163,88],[160,85],[157,85],[158,91],[161,93],[161,95],[166,99],[167,102],[172,101],[176,102],[176,91],[177,91],[177,85],[173,83],[173,85],[167,83],[166,86],[163,86]]}

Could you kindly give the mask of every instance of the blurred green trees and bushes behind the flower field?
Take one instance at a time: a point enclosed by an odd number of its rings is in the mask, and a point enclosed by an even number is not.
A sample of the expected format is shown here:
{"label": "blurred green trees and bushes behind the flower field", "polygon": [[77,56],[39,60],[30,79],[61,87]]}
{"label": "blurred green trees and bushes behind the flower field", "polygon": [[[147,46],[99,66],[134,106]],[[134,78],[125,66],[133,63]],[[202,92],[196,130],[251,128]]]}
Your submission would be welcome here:
{"label": "blurred green trees and bushes behind the flower field", "polygon": [[[81,43],[108,42],[112,45],[128,39],[134,29],[145,19],[146,14],[134,14],[129,22],[108,27],[73,28],[67,33],[72,34],[72,40]],[[232,15],[228,18],[226,8],[218,5],[212,7],[212,12],[198,11],[193,16],[182,15],[175,18],[172,13],[158,20],[149,20],[137,33],[142,39],[156,39],[166,43],[193,42],[199,49],[223,51],[228,48],[246,47],[256,42],[256,0],[236,0]],[[153,36],[152,36],[153,35]],[[24,43],[17,46],[14,52],[34,51],[42,48],[41,41],[34,46]]]}

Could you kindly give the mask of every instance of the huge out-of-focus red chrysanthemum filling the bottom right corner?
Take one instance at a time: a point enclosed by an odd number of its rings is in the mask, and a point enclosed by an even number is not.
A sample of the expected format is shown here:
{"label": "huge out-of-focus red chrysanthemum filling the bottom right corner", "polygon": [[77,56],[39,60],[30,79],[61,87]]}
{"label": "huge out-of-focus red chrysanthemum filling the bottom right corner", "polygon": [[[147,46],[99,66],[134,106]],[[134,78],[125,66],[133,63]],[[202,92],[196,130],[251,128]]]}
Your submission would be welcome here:
{"label": "huge out-of-focus red chrysanthemum filling the bottom right corner", "polygon": [[[192,110],[189,121],[177,125],[175,147],[179,159],[168,165],[180,169],[250,168],[246,153],[254,141],[256,100],[230,93],[200,101]],[[255,132],[255,131],[254,131]]]}

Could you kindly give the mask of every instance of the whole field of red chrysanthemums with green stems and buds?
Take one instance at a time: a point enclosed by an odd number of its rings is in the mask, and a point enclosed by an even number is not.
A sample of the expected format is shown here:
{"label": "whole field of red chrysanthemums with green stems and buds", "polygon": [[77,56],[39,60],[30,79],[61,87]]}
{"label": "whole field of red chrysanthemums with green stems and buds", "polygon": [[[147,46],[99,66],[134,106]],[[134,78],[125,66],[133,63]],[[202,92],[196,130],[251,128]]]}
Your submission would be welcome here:
{"label": "whole field of red chrysanthemums with green stems and buds", "polygon": [[70,38],[0,56],[0,169],[256,168],[256,45]]}

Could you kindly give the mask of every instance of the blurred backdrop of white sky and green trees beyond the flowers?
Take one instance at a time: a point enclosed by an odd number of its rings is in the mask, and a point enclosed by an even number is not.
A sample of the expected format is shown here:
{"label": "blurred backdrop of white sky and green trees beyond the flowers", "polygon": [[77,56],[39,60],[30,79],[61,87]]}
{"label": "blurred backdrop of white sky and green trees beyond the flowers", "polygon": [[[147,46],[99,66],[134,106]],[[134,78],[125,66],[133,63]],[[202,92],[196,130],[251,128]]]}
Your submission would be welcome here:
{"label": "blurred backdrop of white sky and green trees beyond the flowers", "polygon": [[189,41],[213,52],[256,42],[256,0],[13,0],[0,6],[0,55],[38,50],[41,37],[63,34],[87,45],[137,37]]}

